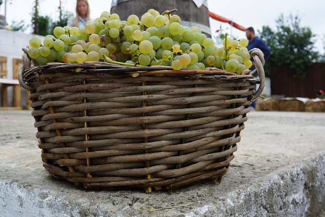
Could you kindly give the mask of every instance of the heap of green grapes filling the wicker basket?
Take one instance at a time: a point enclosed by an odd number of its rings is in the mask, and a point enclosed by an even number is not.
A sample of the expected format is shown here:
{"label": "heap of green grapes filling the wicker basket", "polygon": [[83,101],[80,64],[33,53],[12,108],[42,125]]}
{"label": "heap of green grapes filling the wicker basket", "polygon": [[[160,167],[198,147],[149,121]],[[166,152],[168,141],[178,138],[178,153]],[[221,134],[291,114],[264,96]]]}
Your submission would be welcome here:
{"label": "heap of green grapes filling the wicker basket", "polygon": [[104,11],[85,28],[55,27],[54,34],[30,39],[28,55],[39,65],[49,62],[106,61],[127,66],[171,66],[174,70],[212,67],[241,73],[252,66],[247,39],[225,38],[217,48],[199,27],[181,25],[178,15],[148,10],[121,20]]}

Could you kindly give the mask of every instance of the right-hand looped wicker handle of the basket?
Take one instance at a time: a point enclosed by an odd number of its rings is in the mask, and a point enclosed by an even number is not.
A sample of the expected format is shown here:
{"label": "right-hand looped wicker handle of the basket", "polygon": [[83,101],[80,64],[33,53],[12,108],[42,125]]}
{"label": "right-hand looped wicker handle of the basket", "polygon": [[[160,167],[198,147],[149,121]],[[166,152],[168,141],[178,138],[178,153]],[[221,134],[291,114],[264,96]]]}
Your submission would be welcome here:
{"label": "right-hand looped wicker handle of the basket", "polygon": [[253,72],[251,72],[252,75],[255,75],[256,72],[258,74],[258,77],[261,79],[260,81],[260,85],[258,87],[258,89],[256,90],[256,92],[253,94],[253,101],[257,99],[257,97],[259,95],[261,95],[264,86],[265,86],[265,73],[264,73],[264,64],[265,64],[265,60],[264,60],[264,54],[263,52],[258,49],[258,48],[253,48],[252,50],[249,51],[249,54],[251,54],[251,56],[253,57],[254,61],[255,61],[255,70],[253,70]]}

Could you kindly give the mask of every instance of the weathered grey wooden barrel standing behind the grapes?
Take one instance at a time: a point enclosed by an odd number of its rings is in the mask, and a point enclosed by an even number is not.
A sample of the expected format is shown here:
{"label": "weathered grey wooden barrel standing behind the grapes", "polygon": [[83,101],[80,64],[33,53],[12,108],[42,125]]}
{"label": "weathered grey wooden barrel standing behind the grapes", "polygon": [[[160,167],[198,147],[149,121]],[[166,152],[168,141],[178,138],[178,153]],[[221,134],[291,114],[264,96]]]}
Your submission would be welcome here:
{"label": "weathered grey wooden barrel standing behind the grapes", "polygon": [[110,12],[116,13],[121,19],[126,20],[131,14],[141,18],[151,8],[158,10],[160,13],[177,8],[178,11],[173,14],[181,17],[182,25],[188,27],[198,26],[203,33],[211,37],[209,10],[206,0],[199,8],[193,0],[118,0],[117,5],[112,4]]}

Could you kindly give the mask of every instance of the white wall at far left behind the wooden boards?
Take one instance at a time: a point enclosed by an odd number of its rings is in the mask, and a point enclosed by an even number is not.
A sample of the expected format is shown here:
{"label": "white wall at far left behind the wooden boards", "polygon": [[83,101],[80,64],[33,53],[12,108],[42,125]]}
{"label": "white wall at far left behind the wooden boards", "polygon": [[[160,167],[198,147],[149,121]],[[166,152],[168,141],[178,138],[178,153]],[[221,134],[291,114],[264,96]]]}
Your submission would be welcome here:
{"label": "white wall at far left behind the wooden boards", "polygon": [[[29,40],[37,35],[28,35],[17,31],[0,29],[0,56],[7,57],[7,78],[13,78],[13,59],[21,59],[22,48],[29,44]],[[44,36],[37,36],[43,41]],[[22,106],[25,105],[25,98],[21,94]],[[12,88],[8,88],[8,106],[12,106]]]}

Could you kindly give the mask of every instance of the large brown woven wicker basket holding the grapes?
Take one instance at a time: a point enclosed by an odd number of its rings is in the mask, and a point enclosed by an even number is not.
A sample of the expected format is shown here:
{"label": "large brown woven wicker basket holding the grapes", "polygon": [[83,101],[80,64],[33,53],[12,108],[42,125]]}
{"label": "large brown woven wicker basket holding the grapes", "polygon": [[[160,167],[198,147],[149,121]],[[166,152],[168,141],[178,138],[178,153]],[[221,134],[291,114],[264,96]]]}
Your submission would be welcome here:
{"label": "large brown woven wicker basket holding the grapes", "polygon": [[19,82],[31,91],[45,169],[85,188],[221,181],[264,87],[263,54],[250,53],[260,78],[106,63],[30,67],[23,54]]}

